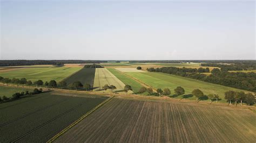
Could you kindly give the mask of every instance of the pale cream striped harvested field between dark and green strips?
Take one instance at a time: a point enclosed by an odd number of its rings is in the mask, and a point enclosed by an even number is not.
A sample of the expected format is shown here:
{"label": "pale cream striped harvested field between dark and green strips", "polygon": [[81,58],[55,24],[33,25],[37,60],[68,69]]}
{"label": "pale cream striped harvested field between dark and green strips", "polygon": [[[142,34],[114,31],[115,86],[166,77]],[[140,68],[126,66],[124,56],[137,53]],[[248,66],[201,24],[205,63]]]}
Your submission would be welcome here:
{"label": "pale cream striped harvested field between dark and green strips", "polygon": [[96,68],[93,90],[101,90],[105,84],[116,86],[117,89],[114,91],[123,90],[125,86],[122,81],[118,80],[118,78],[106,68]]}

